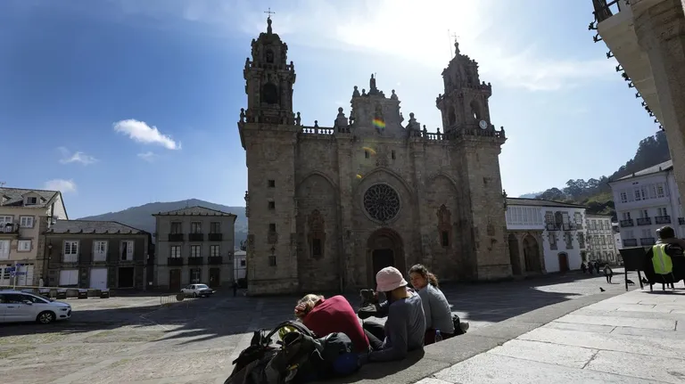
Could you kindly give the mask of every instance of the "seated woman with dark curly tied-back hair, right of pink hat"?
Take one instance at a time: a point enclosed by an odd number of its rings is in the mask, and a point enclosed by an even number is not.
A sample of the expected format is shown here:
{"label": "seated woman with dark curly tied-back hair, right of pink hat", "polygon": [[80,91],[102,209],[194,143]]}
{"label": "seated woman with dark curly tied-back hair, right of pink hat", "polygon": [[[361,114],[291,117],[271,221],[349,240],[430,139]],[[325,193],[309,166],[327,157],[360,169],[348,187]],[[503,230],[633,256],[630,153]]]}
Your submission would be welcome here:
{"label": "seated woman with dark curly tied-back hair, right of pink hat", "polygon": [[468,330],[468,323],[458,323],[459,328],[455,330],[455,320],[452,318],[450,303],[447,302],[445,294],[438,288],[438,278],[431,274],[428,269],[417,264],[409,269],[409,279],[418,296],[424,305],[425,314],[425,336],[424,345],[435,342],[435,331],[440,331],[442,339],[450,339],[456,334],[463,334]]}

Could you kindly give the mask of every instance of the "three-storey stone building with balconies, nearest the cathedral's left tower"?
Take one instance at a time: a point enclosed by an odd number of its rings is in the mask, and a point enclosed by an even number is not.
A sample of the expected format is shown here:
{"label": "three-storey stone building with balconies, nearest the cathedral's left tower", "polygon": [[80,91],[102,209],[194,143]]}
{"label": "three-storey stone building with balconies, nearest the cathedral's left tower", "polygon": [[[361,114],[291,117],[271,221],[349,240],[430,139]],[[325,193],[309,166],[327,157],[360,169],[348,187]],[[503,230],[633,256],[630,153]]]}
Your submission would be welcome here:
{"label": "three-storey stone building with balconies, nearest the cathedral's left tower", "polygon": [[202,282],[212,288],[234,282],[235,219],[232,213],[190,207],[153,215],[155,286],[180,290]]}

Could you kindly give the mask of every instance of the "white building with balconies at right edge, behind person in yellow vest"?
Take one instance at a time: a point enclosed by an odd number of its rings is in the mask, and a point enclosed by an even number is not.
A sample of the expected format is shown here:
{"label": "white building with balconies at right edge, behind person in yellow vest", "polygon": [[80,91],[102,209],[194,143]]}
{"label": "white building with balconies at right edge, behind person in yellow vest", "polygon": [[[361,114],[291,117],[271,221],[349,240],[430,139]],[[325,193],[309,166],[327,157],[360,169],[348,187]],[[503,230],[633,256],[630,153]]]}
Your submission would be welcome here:
{"label": "white building with balconies at right edge, behind person in yellow vest", "polygon": [[681,193],[675,183],[671,160],[609,183],[614,193],[622,248],[650,246],[656,229],[669,225],[676,236],[685,236]]}

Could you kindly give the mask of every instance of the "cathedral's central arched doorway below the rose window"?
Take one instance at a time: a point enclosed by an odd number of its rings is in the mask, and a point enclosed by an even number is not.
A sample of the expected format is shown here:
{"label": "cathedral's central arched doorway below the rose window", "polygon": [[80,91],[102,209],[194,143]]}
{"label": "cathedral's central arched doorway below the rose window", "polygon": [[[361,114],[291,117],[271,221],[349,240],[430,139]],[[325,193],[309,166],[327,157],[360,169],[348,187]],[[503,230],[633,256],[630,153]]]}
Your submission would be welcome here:
{"label": "cathedral's central arched doorway below the rose window", "polygon": [[399,233],[390,228],[381,228],[368,237],[367,281],[376,289],[376,274],[386,266],[394,266],[406,274],[404,245]]}

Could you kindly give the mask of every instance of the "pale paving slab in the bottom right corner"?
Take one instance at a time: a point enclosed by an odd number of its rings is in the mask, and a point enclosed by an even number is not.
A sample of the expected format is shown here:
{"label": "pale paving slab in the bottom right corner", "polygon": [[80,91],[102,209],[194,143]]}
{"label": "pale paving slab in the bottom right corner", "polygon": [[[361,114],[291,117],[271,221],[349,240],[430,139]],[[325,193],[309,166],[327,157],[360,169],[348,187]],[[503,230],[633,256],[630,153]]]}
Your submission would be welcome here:
{"label": "pale paving slab in the bottom right corner", "polygon": [[685,360],[664,359],[653,355],[599,351],[587,369],[641,378],[650,382],[681,384],[685,380]]}

